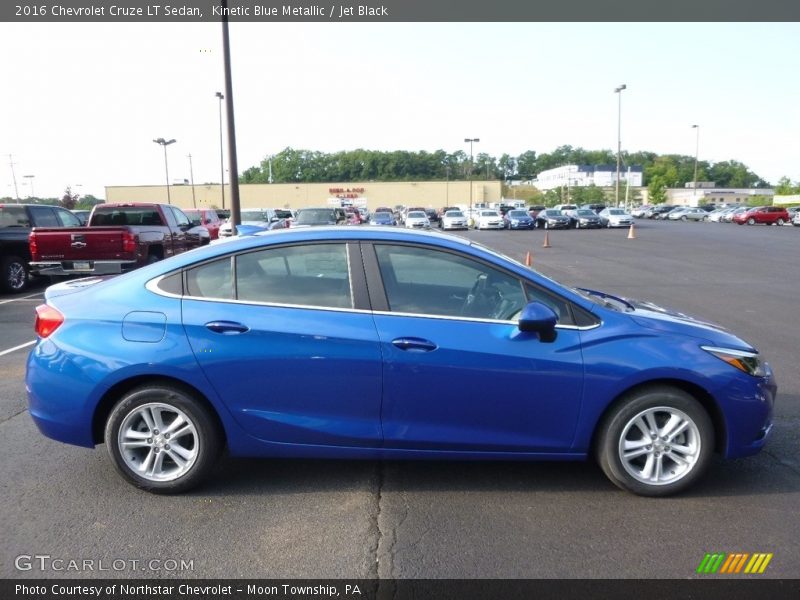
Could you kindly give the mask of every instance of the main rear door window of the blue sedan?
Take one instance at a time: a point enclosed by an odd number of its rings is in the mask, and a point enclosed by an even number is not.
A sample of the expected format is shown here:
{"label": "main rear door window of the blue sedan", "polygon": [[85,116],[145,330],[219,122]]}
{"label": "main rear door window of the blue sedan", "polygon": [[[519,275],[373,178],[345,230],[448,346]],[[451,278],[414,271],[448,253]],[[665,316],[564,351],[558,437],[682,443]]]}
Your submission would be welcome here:
{"label": "main rear door window of the blue sedan", "polygon": [[236,257],[237,299],[352,308],[346,244],[284,246]]}

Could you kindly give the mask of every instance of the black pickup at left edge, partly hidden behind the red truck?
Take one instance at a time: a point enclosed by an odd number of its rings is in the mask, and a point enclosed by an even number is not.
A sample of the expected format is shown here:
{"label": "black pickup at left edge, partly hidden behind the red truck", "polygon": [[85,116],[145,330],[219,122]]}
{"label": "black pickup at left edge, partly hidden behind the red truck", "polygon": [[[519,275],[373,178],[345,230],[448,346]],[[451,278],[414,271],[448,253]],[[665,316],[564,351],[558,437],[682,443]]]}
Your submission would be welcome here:
{"label": "black pickup at left edge, partly hidden behind the red truck", "polygon": [[0,291],[28,288],[33,227],[80,227],[78,217],[59,206],[0,204]]}

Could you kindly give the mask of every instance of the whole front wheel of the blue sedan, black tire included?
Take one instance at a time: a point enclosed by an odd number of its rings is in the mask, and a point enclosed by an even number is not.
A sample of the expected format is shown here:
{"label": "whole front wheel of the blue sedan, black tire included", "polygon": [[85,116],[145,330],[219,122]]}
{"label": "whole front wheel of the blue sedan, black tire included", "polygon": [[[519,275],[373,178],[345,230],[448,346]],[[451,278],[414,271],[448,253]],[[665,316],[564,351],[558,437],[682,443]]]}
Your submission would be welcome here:
{"label": "whole front wheel of the blue sedan, black tire included", "polygon": [[[672,422],[674,426],[669,425]],[[621,456],[626,444],[635,453],[627,459]],[[601,422],[595,448],[600,468],[611,482],[640,496],[685,490],[708,468],[713,450],[714,428],[708,413],[694,397],[669,386],[644,388],[624,397]]]}

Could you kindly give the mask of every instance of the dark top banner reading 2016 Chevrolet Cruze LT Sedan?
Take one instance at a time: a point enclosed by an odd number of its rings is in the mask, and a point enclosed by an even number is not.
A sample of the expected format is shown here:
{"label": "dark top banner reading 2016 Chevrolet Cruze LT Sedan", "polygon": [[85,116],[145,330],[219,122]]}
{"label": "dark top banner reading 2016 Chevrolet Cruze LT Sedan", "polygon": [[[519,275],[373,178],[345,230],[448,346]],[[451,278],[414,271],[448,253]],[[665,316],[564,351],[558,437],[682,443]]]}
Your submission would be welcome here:
{"label": "dark top banner reading 2016 Chevrolet Cruze LT Sedan", "polygon": [[[11,0],[0,21],[210,22],[220,0]],[[791,0],[230,0],[231,22],[749,22],[800,20]]]}

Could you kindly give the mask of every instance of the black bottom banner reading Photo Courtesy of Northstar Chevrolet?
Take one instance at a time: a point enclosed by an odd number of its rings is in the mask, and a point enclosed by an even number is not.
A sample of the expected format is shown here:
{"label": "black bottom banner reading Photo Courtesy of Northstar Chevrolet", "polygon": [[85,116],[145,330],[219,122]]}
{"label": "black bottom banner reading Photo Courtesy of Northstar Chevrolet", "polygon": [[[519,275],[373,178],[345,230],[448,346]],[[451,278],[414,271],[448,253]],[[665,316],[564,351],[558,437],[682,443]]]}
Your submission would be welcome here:
{"label": "black bottom banner reading Photo Courtesy of Northstar Chevrolet", "polygon": [[2,580],[4,600],[797,600],[800,580]]}

